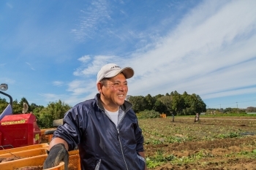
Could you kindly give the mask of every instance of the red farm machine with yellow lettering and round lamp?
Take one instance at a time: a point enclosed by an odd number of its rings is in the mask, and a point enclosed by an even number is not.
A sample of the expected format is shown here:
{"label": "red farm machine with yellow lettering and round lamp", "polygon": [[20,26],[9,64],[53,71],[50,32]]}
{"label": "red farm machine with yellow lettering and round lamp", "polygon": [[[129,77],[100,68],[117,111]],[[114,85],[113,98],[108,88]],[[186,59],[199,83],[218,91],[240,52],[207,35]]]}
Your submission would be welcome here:
{"label": "red farm machine with yellow lettering and round lamp", "polygon": [[12,96],[3,92],[7,89],[7,84],[0,85],[0,93],[10,98],[10,103],[0,115],[0,150],[39,144],[41,131],[37,117],[32,113],[13,115]]}

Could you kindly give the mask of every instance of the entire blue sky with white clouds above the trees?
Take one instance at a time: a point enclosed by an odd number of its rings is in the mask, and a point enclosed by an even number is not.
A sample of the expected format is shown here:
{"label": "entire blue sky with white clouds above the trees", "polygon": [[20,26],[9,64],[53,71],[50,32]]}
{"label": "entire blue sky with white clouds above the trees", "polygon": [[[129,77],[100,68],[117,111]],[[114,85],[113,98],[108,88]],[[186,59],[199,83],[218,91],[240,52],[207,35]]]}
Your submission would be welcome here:
{"label": "entire blue sky with white clouds above the trees", "polygon": [[[0,83],[13,99],[74,106],[106,63],[131,96],[174,90],[209,108],[256,107],[256,1],[0,1]],[[4,96],[1,96],[4,98]]]}

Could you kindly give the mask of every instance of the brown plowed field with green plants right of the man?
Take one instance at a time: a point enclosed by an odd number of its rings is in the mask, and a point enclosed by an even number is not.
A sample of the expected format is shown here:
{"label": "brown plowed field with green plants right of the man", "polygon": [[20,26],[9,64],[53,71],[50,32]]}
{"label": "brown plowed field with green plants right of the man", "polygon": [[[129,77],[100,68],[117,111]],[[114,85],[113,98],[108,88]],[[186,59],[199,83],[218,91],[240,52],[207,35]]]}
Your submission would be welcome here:
{"label": "brown plowed field with green plants right of the man", "polygon": [[148,169],[256,169],[256,117],[139,121]]}

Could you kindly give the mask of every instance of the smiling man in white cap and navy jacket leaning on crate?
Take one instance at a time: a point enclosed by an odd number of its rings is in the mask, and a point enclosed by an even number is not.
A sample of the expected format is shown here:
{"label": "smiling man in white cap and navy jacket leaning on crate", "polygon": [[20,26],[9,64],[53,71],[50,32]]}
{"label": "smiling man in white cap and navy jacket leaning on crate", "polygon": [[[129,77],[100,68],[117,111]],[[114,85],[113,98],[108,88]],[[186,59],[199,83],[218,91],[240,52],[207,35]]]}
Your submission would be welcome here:
{"label": "smiling man in white cap and navy jacket leaning on crate", "polygon": [[143,135],[127,97],[127,79],[134,75],[130,67],[121,69],[114,63],[97,74],[94,99],[77,104],[64,116],[49,144],[44,169],[64,161],[76,145],[81,169],[146,169]]}

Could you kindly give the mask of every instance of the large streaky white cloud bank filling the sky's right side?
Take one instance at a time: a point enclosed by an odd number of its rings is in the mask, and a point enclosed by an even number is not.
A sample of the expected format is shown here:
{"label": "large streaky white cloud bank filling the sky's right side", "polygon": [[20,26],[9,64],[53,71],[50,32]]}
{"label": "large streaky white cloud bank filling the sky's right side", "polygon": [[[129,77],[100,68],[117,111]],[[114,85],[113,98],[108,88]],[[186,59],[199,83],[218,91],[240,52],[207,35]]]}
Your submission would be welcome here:
{"label": "large streaky white cloud bank filling the sky's right side", "polygon": [[[215,98],[236,90],[220,91],[256,84],[254,5],[230,1],[224,7],[215,7],[218,8],[212,9],[209,4],[197,7],[169,36],[156,42],[154,49],[134,54],[127,61],[135,69],[135,77],[129,82],[131,95],[186,90]],[[198,18],[202,15],[198,8],[207,18]],[[251,61],[243,63],[247,60]],[[241,92],[237,90],[238,94]]]}

